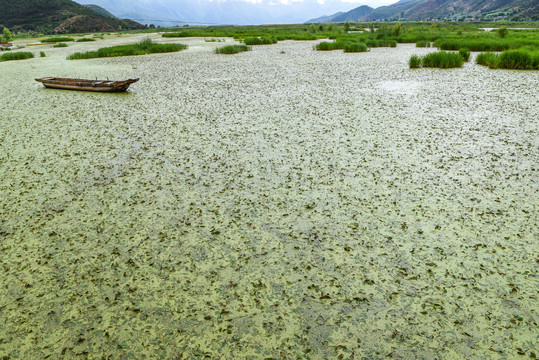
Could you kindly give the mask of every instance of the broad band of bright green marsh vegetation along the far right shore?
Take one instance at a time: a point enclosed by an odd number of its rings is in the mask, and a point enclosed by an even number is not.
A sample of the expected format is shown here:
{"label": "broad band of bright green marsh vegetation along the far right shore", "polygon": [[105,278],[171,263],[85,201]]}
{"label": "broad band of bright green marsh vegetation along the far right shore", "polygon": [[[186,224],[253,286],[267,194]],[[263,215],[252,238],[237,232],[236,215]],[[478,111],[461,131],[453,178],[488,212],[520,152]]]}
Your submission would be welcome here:
{"label": "broad band of bright green marsh vegetation along the far right shore", "polygon": [[[347,25],[347,26],[346,26]],[[272,44],[282,40],[323,40],[317,51],[343,50],[362,52],[367,48],[396,47],[398,43],[415,43],[417,47],[439,50],[505,51],[522,47],[539,49],[539,23],[527,29],[513,29],[518,23],[450,23],[450,22],[376,22],[348,24],[301,24],[267,26],[208,26],[177,28],[163,37],[232,37],[246,45]],[[485,31],[484,28],[498,28]],[[354,30],[354,31],[350,31]],[[328,41],[332,40],[332,41]]]}

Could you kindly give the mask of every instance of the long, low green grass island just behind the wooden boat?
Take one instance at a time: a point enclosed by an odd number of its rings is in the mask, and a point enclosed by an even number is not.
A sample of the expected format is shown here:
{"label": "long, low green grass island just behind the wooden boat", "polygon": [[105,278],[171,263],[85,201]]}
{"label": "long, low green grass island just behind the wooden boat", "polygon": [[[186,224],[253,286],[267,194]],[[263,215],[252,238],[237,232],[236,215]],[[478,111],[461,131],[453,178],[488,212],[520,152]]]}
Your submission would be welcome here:
{"label": "long, low green grass island just behind the wooden boat", "polygon": [[176,52],[187,49],[184,44],[155,44],[146,38],[136,44],[119,45],[101,48],[97,51],[76,52],[67,57],[68,60],[94,59],[102,57],[134,56],[154,53]]}

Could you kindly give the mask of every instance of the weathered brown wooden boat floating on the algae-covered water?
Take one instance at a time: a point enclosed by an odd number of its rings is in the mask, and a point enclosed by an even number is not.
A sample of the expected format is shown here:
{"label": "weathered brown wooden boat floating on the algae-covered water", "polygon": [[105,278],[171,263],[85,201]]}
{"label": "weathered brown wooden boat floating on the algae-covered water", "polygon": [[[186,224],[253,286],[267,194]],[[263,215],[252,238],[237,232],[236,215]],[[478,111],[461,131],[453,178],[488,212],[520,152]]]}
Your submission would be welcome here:
{"label": "weathered brown wooden boat floating on the algae-covered water", "polygon": [[43,83],[45,87],[65,90],[98,91],[98,92],[122,92],[126,91],[129,85],[139,79],[128,79],[123,81],[112,80],[86,80],[45,77],[36,79]]}

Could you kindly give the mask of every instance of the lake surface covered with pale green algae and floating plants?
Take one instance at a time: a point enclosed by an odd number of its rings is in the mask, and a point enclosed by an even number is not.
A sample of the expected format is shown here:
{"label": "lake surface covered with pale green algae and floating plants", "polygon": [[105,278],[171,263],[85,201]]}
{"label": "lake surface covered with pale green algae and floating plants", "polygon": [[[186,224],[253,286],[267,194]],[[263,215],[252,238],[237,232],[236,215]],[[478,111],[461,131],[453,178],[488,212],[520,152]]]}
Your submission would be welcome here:
{"label": "lake surface covered with pale green algae and floating plants", "polygon": [[138,37],[0,63],[0,358],[539,355],[538,72],[195,38],[65,60]]}

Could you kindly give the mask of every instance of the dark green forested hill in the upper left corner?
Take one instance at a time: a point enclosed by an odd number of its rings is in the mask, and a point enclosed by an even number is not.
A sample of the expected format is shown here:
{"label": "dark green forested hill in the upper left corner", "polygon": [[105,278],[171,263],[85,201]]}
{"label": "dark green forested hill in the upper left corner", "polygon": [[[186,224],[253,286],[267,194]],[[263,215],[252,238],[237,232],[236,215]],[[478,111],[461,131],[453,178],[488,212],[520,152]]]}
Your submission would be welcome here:
{"label": "dark green forested hill in the upper left corner", "polygon": [[[0,0],[0,9],[0,24],[18,31],[92,32],[144,27],[131,20],[98,14],[71,0]],[[69,28],[59,28],[66,23]]]}

